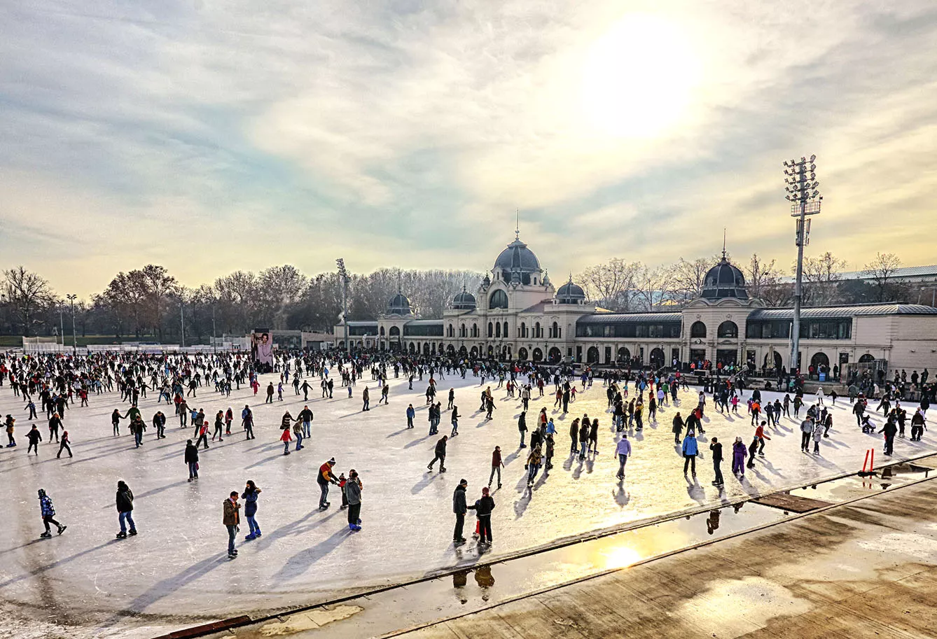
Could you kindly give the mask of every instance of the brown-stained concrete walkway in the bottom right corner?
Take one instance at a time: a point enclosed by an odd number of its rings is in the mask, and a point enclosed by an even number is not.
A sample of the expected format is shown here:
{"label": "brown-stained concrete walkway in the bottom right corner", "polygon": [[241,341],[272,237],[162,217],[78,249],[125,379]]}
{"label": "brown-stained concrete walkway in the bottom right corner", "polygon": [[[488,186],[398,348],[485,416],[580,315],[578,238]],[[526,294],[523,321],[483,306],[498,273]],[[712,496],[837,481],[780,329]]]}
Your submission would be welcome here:
{"label": "brown-stained concrete walkway in the bottom right corner", "polygon": [[394,636],[934,637],[935,509],[914,483]]}

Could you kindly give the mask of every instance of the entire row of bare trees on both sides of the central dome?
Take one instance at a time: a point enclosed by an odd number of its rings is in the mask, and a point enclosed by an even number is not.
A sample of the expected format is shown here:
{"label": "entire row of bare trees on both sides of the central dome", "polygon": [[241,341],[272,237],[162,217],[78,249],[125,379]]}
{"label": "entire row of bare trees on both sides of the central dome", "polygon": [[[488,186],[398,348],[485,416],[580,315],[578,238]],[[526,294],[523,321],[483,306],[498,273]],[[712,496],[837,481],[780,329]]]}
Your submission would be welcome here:
{"label": "entire row of bare trees on both sides of the central dome", "polygon": [[[721,256],[651,267],[640,261],[612,259],[587,268],[575,281],[587,298],[615,311],[679,308],[703,289],[706,272]],[[895,278],[901,260],[878,253],[865,265],[865,279],[842,279],[846,261],[827,252],[804,260],[804,305],[922,302],[930,304],[934,285],[913,285]],[[796,265],[782,269],[757,254],[742,265],[751,297],[770,306],[791,305]],[[404,271],[382,268],[350,275],[349,319],[374,319],[398,290],[414,313],[439,318],[455,293],[477,290],[483,274],[474,271]],[[342,311],[337,273],[304,275],[290,264],[252,273],[235,271],[211,284],[190,288],[164,267],[147,264],[114,275],[105,290],[74,301],[75,332],[112,335],[114,340],[178,343],[185,322],[186,343],[215,335],[243,335],[254,329],[331,331]],[[71,333],[72,304],[52,290],[41,275],[22,266],[0,279],[0,334]]]}

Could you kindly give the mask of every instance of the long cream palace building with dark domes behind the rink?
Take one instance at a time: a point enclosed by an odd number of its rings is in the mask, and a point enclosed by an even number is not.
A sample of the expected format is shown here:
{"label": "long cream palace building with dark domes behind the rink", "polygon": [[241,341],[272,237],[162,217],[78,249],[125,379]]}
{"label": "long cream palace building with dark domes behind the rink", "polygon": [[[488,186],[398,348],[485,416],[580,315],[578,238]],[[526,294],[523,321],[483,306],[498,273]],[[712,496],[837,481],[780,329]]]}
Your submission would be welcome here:
{"label": "long cream palace building with dark domes behind the rink", "polygon": [[[558,289],[520,233],[501,251],[478,290],[456,294],[439,319],[417,318],[402,291],[379,318],[349,321],[359,349],[583,364],[669,365],[674,360],[787,367],[794,318],[749,296],[745,276],[724,254],[700,296],[667,312],[614,313],[588,305],[571,276]],[[344,348],[345,325],[335,326]],[[937,308],[872,304],[803,308],[800,368],[921,370],[937,364]]]}

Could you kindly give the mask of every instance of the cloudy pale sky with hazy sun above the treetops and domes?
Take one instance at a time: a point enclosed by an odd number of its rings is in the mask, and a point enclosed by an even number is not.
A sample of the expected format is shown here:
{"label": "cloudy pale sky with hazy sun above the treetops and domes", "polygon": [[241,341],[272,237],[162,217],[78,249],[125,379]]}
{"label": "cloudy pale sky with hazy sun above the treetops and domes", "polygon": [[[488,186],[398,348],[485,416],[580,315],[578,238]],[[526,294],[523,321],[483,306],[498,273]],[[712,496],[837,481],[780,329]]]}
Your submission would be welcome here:
{"label": "cloudy pale sky with hazy sun above the treetops and domes", "polygon": [[0,268],[934,263],[937,4],[0,3]]}

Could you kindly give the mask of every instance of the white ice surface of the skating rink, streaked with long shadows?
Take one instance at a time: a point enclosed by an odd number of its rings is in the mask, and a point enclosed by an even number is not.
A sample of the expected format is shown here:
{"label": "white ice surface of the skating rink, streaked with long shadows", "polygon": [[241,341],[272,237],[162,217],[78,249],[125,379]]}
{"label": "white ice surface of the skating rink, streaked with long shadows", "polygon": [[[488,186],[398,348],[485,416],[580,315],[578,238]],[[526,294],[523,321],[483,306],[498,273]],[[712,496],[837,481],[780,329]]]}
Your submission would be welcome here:
{"label": "white ice surface of the skating rink, streaked with long shadows", "polygon": [[[365,372],[365,378],[367,378]],[[202,408],[211,418],[218,409],[231,407],[235,423],[224,443],[211,443],[201,453],[198,482],[188,483],[183,453],[192,428],[179,428],[172,407],[167,414],[165,439],[156,439],[152,426],[144,445],[134,448],[122,422],[120,437],[112,436],[110,415],[114,408],[126,411],[128,404],[118,394],[92,395],[89,408],[73,406],[65,423],[72,440],[73,458],[56,459],[58,446],[48,442],[46,422],[37,424],[44,441],[38,457],[26,454],[25,434],[30,422],[20,398],[9,387],[0,389],[0,414],[17,417],[19,446],[0,450],[0,472],[7,483],[5,504],[11,509],[0,540],[0,600],[4,611],[14,617],[0,622],[0,632],[18,628],[17,636],[31,636],[16,617],[31,617],[52,624],[48,628],[77,624],[101,629],[97,636],[123,634],[150,636],[165,623],[199,623],[205,619],[231,617],[321,600],[349,588],[396,582],[457,563],[470,563],[480,555],[474,542],[454,548],[452,495],[460,478],[468,479],[468,501],[480,497],[488,481],[491,453],[497,444],[504,455],[503,487],[494,493],[495,541],[492,558],[569,537],[596,528],[647,519],[665,513],[754,496],[810,483],[862,467],[869,448],[882,456],[881,436],[863,435],[855,426],[848,402],[834,409],[831,437],[824,439],[822,454],[800,452],[798,422],[781,418],[778,428],[769,427],[766,458],[746,473],[741,483],[731,473],[731,443],[736,435],[746,444],[753,428],[739,405],[739,415],[721,415],[707,403],[706,436],[701,436],[704,458],[697,460],[698,480],[684,479],[683,460],[674,446],[671,420],[677,409],[684,417],[696,405],[698,388],[679,394],[679,406],[664,406],[657,423],[646,424],[643,433],[631,431],[633,454],[624,482],[615,478],[615,433],[606,411],[601,380],[579,394],[571,412],[563,415],[553,408],[553,399],[534,397],[528,425],[546,406],[556,421],[555,468],[541,474],[532,491],[526,490],[524,464],[528,449],[518,450],[516,418],[519,400],[498,398],[494,419],[484,420],[478,411],[480,379],[438,379],[439,400],[446,405],[451,387],[462,414],[459,435],[450,439],[448,472],[426,472],[433,448],[448,434],[449,413],[443,412],[439,436],[428,437],[424,391],[426,379],[407,390],[406,379],[391,379],[390,405],[378,406],[374,382],[371,410],[362,412],[361,394],[366,383],[359,380],[351,399],[344,388],[335,388],[334,399],[320,398],[319,379],[311,379],[309,408],[315,413],[313,437],[305,449],[283,454],[278,441],[279,422],[287,409],[295,417],[303,408],[302,395],[285,386],[284,401],[264,405],[263,387],[276,376],[260,378],[260,394],[247,388],[230,398],[202,387],[190,406]],[[552,388],[547,387],[547,393]],[[536,391],[535,391],[536,394]],[[773,399],[776,395],[763,393]],[[633,395],[633,389],[632,389]],[[810,405],[812,395],[806,397]],[[826,397],[827,406],[830,404]],[[255,415],[256,439],[245,441],[240,429],[240,410],[250,404]],[[405,409],[417,409],[416,427],[406,428]],[[156,396],[141,400],[144,421],[150,424],[156,411]],[[874,408],[872,405],[871,408]],[[907,406],[908,416],[914,407]],[[569,451],[569,424],[588,413],[599,417],[600,454],[585,461]],[[40,417],[43,415],[40,414]],[[874,418],[881,427],[881,413]],[[909,426],[910,429],[910,426]],[[724,444],[726,478],[720,491],[713,478],[708,442],[716,436]],[[294,446],[290,446],[292,449]],[[894,460],[932,453],[930,433],[923,442],[897,439]],[[364,529],[352,533],[346,514],[338,510],[336,489],[332,508],[318,510],[316,472],[320,464],[335,456],[338,472],[356,468],[363,480],[362,519]],[[227,557],[227,532],[222,526],[222,501],[231,490],[244,490],[245,480],[262,489],[257,520],[263,535],[243,542],[245,520],[239,535],[240,557]],[[118,531],[114,493],[118,480],[129,484],[135,495],[134,519],[140,534],[115,540]],[[62,536],[40,540],[42,523],[37,488],[45,488],[56,509],[56,518],[68,529]],[[469,513],[468,532],[474,526]],[[131,618],[132,617],[132,618]],[[7,628],[4,628],[4,625]],[[149,626],[149,628],[147,628]],[[50,636],[33,625],[35,636]],[[79,633],[80,634],[80,633]],[[71,636],[78,636],[71,633]]]}

